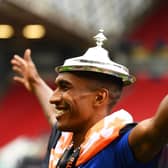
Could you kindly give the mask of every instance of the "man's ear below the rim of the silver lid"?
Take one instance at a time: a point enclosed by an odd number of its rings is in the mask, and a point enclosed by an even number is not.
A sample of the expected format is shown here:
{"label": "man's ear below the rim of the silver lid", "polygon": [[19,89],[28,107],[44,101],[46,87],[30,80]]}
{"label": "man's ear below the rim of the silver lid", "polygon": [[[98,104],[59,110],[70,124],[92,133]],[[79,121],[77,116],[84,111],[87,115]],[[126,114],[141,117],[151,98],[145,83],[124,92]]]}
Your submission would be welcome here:
{"label": "man's ear below the rim of the silver lid", "polygon": [[104,103],[107,103],[109,98],[109,91],[108,89],[101,88],[97,91],[97,94],[95,96],[95,105],[102,105]]}

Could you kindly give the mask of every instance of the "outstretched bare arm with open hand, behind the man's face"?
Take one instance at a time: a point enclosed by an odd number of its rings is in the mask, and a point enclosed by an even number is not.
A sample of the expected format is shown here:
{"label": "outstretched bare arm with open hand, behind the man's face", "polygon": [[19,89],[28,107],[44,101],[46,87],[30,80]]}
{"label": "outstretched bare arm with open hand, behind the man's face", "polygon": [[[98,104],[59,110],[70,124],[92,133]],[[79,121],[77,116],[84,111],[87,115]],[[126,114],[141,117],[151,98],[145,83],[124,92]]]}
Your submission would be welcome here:
{"label": "outstretched bare arm with open hand, behind the man's face", "polygon": [[23,84],[28,91],[36,95],[49,123],[54,125],[56,122],[53,113],[54,107],[49,103],[53,90],[40,77],[31,59],[31,50],[25,50],[23,57],[14,55],[11,64],[13,71],[17,73],[17,76],[14,76],[13,79]]}

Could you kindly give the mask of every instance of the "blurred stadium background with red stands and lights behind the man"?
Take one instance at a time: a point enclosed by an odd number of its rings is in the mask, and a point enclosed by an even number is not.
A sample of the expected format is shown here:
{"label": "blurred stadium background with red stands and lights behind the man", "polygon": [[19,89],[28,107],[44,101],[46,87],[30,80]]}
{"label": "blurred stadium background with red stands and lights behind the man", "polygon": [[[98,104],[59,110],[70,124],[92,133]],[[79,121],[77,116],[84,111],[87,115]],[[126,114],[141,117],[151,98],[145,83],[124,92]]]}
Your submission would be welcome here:
{"label": "blurred stadium background with red stands and lights behind the man", "polygon": [[166,0],[0,0],[0,168],[43,155],[50,131],[36,98],[12,81],[13,54],[31,48],[52,87],[54,67],[94,46],[92,37],[104,29],[111,58],[137,77],[114,110],[124,108],[140,121],[167,94],[167,9]]}

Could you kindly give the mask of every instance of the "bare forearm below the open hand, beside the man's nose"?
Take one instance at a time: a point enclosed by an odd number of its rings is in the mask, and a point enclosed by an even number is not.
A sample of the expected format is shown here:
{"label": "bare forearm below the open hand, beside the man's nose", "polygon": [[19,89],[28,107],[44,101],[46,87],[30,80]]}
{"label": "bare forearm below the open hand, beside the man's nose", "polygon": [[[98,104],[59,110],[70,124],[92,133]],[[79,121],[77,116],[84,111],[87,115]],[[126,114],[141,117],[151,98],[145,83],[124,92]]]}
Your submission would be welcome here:
{"label": "bare forearm below the open hand, beside the man's nose", "polygon": [[40,77],[32,84],[32,92],[35,94],[42,106],[45,116],[49,123],[54,125],[56,118],[54,117],[54,106],[49,103],[49,99],[53,94],[53,90]]}

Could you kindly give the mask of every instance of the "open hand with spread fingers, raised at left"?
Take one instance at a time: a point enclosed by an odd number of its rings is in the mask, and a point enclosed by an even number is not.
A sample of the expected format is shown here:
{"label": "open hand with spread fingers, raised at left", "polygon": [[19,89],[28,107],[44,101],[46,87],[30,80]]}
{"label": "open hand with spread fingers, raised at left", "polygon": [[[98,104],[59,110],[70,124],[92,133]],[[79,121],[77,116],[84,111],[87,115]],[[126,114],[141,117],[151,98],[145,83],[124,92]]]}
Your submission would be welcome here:
{"label": "open hand with spread fingers, raised at left", "polygon": [[27,90],[32,91],[40,76],[31,59],[31,50],[26,49],[23,58],[19,55],[14,55],[11,64],[13,71],[17,73],[13,79],[23,84]]}

